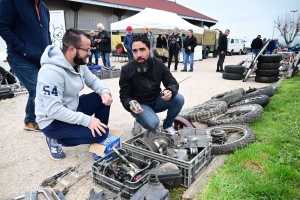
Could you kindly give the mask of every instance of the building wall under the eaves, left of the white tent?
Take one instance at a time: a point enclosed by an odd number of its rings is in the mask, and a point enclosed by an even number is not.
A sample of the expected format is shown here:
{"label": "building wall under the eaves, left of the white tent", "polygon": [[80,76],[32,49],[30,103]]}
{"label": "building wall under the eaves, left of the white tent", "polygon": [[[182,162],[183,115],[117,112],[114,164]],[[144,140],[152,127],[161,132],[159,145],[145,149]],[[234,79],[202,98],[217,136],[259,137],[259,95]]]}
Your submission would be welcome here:
{"label": "building wall under the eaves, left of the white tent", "polygon": [[[74,11],[69,7],[69,2],[65,0],[43,0],[49,10],[64,10],[66,29],[74,27]],[[136,11],[126,11],[121,20],[135,15]],[[78,11],[77,28],[84,31],[97,30],[97,24],[102,23],[106,30],[110,31],[110,24],[117,22],[118,17],[113,14],[113,8],[82,4]]]}

